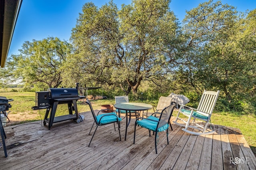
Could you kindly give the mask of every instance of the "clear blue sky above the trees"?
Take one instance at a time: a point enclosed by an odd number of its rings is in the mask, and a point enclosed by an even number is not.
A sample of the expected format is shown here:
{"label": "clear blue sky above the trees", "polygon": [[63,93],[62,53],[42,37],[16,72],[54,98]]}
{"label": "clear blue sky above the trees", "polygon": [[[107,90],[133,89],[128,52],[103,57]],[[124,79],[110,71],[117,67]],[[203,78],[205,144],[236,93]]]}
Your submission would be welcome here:
{"label": "clear blue sky above the trees", "polygon": [[[113,0],[118,8],[121,8],[121,4],[130,4],[131,1]],[[189,11],[206,1],[208,0],[172,0],[170,10],[182,21],[186,10]],[[109,0],[23,0],[8,57],[18,54],[22,44],[32,39],[42,40],[52,36],[68,41],[71,29],[76,26],[76,19],[86,2],[93,2],[101,7]],[[256,8],[256,0],[222,0],[222,3],[235,6],[240,12]]]}

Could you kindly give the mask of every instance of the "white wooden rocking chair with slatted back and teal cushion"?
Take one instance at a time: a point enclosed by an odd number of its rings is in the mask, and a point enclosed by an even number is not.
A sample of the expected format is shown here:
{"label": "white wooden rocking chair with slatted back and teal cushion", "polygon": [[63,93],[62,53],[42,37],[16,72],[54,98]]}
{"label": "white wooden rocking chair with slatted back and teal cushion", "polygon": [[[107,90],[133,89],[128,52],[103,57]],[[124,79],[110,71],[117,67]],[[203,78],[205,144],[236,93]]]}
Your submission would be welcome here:
{"label": "white wooden rocking chair with slatted back and teal cushion", "polygon": [[[210,135],[215,133],[214,130],[207,129],[207,127],[212,115],[212,111],[218,99],[219,93],[220,93],[219,90],[217,92],[204,90],[204,93],[202,94],[202,98],[199,102],[197,109],[181,105],[178,111],[176,120],[173,121],[173,123],[176,123],[177,125],[185,127],[185,129],[182,129],[182,130],[187,133],[191,133],[193,135]],[[187,108],[189,108],[190,110],[188,110]],[[184,120],[181,117],[179,117],[180,113],[182,113],[183,115],[186,115],[188,117],[188,120]],[[191,119],[193,119],[192,123],[190,123]],[[200,123],[200,124],[196,123],[196,119],[199,119],[201,121],[206,121],[206,123],[204,125],[203,123]],[[178,120],[183,121],[185,124],[178,123],[177,122]],[[197,129],[198,132],[191,131],[193,129],[190,130],[188,129],[189,127]]]}

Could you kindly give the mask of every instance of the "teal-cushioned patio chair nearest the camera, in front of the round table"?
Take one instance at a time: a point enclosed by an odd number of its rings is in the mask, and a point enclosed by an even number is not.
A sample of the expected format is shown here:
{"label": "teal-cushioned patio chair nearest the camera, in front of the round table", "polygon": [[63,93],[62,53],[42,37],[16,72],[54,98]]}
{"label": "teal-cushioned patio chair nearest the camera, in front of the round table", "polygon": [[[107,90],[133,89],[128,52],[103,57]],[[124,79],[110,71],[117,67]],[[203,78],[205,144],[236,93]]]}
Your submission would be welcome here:
{"label": "teal-cushioned patio chair nearest the camera, in front of the round table", "polygon": [[[170,105],[165,107],[161,113],[153,113],[151,116],[144,118],[144,117],[139,117],[135,121],[135,127],[134,127],[134,140],[133,144],[135,144],[135,136],[136,136],[136,125],[139,125],[141,127],[144,127],[148,129],[149,131],[149,136],[151,136],[151,131],[155,133],[155,149],[157,145],[156,139],[158,138],[158,133],[162,131],[166,131],[166,137],[167,137],[167,144],[169,144],[168,140],[168,134],[169,134],[169,122],[170,118],[172,116],[172,112],[174,110],[174,105]],[[160,114],[160,117],[156,117],[156,114]],[[153,116],[154,115],[154,116]],[[157,149],[156,149],[156,154],[157,154]]]}

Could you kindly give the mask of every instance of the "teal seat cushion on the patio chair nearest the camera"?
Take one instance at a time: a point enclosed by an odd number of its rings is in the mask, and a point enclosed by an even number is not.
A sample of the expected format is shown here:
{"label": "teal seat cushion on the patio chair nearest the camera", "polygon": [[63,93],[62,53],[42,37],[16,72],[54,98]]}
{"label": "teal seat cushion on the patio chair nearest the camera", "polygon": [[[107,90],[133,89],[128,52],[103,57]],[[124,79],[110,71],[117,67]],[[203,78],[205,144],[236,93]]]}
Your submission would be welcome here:
{"label": "teal seat cushion on the patio chair nearest the camera", "polygon": [[[155,120],[155,121],[151,121],[151,120],[148,120],[148,119]],[[141,127],[146,128],[146,129],[156,131],[156,126],[157,126],[157,123],[158,123],[157,121],[159,121],[158,117],[150,116],[147,119],[138,120],[137,124],[140,125]],[[162,127],[158,127],[157,132],[164,131],[164,130],[168,129],[168,127],[169,127],[169,124],[166,123]]]}

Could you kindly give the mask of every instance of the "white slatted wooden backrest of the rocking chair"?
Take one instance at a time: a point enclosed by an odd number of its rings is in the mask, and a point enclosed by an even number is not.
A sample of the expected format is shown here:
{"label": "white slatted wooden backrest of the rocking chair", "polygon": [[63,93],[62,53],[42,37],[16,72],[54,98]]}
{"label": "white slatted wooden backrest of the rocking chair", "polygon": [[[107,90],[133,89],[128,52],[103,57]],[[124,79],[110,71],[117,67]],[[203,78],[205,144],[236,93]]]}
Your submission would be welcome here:
{"label": "white slatted wooden backrest of the rocking chair", "polygon": [[198,104],[197,109],[205,113],[208,113],[209,115],[207,116],[209,119],[214,109],[214,106],[217,102],[219,93],[220,93],[220,90],[218,90],[217,92],[204,90],[201,100]]}

